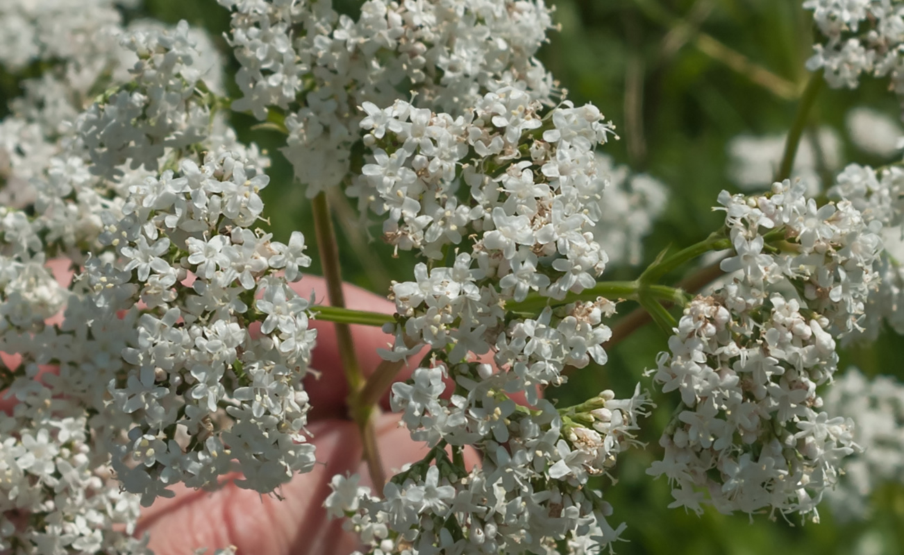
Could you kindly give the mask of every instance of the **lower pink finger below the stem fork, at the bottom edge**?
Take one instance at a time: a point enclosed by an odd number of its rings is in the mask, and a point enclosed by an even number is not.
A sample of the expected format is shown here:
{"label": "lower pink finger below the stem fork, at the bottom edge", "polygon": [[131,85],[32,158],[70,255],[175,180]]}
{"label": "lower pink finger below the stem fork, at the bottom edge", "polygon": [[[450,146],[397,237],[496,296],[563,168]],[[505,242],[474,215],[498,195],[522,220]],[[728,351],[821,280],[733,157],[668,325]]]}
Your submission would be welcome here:
{"label": "lower pink finger below the stem fork, at the bottom edge", "polygon": [[[411,440],[400,428],[397,415],[384,414],[375,422],[384,468],[397,472],[406,463],[428,453],[428,447]],[[261,496],[225,484],[213,493],[179,489],[174,498],[159,499],[142,513],[139,533],[151,533],[150,547],[159,555],[182,555],[201,547],[238,548],[258,555],[320,555],[347,553],[357,538],[342,529],[342,521],[330,520],[323,508],[333,475],[359,472],[361,484],[370,485],[367,468],[360,463],[361,440],[347,420],[321,420],[310,427],[318,460],[325,461],[304,475],[295,476],[275,496]],[[468,467],[478,461],[467,448]],[[380,492],[381,494],[381,492]]]}

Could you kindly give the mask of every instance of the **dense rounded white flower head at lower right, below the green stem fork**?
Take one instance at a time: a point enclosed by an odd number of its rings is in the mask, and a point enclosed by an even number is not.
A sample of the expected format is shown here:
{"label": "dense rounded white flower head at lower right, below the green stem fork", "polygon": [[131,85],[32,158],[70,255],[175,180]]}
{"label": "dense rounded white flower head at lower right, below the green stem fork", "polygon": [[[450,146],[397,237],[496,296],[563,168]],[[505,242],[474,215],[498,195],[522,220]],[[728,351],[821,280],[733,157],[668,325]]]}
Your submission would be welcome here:
{"label": "dense rounded white flower head at lower right, below the green stem fork", "polygon": [[[851,419],[815,410],[816,386],[837,364],[832,336],[794,301],[747,303],[736,291],[693,301],[660,355],[654,380],[683,404],[648,472],[668,477],[672,506],[696,513],[705,503],[722,513],[815,513],[857,448]],[[728,307],[739,303],[749,306]]]}

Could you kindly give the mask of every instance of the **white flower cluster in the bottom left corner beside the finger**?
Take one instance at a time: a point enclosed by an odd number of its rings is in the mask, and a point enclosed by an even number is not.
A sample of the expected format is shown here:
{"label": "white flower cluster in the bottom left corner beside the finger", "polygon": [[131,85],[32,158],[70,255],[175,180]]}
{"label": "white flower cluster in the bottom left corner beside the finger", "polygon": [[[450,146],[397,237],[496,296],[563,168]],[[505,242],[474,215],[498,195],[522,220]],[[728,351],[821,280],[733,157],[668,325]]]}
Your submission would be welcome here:
{"label": "white flower cluster in the bottom left corner beside the finger", "polygon": [[40,386],[16,397],[0,418],[0,550],[149,554],[137,499],[97,471],[88,416]]}

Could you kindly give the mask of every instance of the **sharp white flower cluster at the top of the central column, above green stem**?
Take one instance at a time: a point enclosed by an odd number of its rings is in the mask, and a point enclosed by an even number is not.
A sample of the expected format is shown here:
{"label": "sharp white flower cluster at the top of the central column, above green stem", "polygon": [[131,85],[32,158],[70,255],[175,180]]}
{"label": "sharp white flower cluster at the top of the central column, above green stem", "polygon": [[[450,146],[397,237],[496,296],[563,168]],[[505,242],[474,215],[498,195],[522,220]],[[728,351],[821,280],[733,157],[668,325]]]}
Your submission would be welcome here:
{"label": "sharp white flower cluster at the top of the central column, above green stem", "polygon": [[[457,118],[398,100],[380,110],[385,122],[362,122],[373,155],[350,194],[386,215],[385,238],[398,249],[441,259],[444,249],[473,243],[479,278],[512,282],[510,298],[532,289],[560,299],[592,287],[607,261],[592,234],[605,186],[593,148],[611,127],[590,105],[566,102],[545,118],[540,109],[512,87]],[[551,278],[518,287],[525,265],[546,266]]]}

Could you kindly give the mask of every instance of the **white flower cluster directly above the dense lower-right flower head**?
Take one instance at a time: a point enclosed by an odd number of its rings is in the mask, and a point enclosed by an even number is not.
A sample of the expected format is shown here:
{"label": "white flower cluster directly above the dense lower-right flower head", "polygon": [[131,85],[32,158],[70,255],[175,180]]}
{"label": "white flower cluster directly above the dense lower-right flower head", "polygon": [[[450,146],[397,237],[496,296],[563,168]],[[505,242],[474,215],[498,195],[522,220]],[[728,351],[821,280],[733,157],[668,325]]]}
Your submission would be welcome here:
{"label": "white flower cluster directly above the dense lower-right flower head", "polygon": [[[779,293],[826,318],[830,334],[858,329],[878,287],[879,221],[850,201],[818,206],[805,184],[788,180],[751,199],[722,192],[719,202],[734,247],[720,268],[740,272],[748,286],[742,296],[765,301]],[[776,240],[777,247],[769,244]]]}

